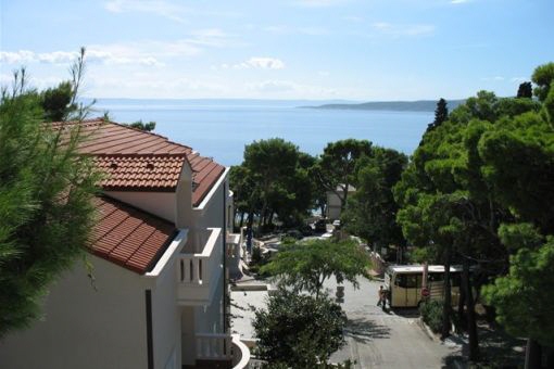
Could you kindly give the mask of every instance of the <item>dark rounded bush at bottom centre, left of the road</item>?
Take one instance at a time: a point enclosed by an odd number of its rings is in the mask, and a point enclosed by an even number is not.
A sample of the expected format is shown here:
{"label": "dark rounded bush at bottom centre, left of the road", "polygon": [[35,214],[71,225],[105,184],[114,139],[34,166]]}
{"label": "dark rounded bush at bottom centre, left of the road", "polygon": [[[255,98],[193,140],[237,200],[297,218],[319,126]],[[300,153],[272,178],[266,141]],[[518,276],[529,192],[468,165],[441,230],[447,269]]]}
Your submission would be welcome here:
{"label": "dark rounded bush at bottom centre, left of the road", "polygon": [[256,310],[252,325],[257,354],[273,365],[317,368],[344,344],[347,317],[329,297],[279,289],[266,310]]}

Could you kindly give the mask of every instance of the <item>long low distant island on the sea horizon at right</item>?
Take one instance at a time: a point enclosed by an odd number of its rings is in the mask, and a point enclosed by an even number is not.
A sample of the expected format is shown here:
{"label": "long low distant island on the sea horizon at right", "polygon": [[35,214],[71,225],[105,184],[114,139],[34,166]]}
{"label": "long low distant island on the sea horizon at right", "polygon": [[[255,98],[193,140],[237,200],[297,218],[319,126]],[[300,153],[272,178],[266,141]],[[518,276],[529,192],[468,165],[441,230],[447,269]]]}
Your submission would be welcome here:
{"label": "long low distant island on the sea horizon at right", "polygon": [[[301,109],[332,109],[355,111],[392,111],[392,112],[435,112],[438,100],[418,101],[372,101],[357,104],[324,104],[317,106],[299,106]],[[449,110],[452,111],[465,100],[446,100]]]}

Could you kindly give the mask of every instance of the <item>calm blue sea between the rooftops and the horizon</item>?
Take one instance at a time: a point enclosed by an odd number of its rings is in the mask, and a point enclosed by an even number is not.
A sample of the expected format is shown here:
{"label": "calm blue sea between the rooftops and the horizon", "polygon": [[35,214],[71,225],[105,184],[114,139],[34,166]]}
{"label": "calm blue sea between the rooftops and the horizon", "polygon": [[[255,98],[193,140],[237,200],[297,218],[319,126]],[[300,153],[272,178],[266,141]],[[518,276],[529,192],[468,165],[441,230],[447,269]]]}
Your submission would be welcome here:
{"label": "calm blue sea between the rooftops and the horizon", "polygon": [[279,137],[318,155],[328,142],[355,138],[412,154],[432,112],[301,109],[327,101],[100,99],[113,122],[154,120],[155,132],[224,165],[242,162],[244,145]]}

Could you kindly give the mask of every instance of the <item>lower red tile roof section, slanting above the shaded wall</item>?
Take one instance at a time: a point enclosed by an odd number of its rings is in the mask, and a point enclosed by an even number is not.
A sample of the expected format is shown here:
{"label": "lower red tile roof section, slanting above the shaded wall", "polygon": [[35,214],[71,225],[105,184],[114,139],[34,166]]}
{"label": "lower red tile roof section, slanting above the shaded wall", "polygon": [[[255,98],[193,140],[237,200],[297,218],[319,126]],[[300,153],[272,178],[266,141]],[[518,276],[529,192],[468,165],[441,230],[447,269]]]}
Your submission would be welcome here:
{"label": "lower red tile roof section, slanting above the shaded wall", "polygon": [[175,238],[175,226],[110,198],[96,198],[98,222],[91,251],[124,268],[144,273],[152,269]]}

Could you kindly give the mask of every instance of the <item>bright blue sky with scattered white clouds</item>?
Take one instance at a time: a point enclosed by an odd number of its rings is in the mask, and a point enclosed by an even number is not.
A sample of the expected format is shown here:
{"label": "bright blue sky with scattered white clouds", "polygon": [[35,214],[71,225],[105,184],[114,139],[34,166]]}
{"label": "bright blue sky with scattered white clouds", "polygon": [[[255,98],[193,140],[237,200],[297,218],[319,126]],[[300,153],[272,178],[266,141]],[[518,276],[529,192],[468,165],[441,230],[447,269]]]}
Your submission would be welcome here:
{"label": "bright blue sky with scattered white clouds", "polygon": [[90,98],[514,96],[554,61],[552,0],[0,0],[0,84],[87,50]]}

